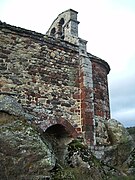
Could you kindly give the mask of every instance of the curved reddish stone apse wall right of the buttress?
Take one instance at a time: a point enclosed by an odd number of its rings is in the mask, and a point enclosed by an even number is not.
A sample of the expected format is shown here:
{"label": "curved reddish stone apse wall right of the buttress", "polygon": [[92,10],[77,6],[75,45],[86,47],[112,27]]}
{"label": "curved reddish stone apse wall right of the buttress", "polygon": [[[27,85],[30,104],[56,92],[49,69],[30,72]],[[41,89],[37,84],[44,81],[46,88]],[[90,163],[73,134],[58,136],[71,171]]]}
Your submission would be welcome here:
{"label": "curved reddish stone apse wall right of the buttress", "polygon": [[94,89],[94,115],[103,119],[110,119],[109,92],[107,75],[109,66],[104,61],[92,58],[92,74]]}

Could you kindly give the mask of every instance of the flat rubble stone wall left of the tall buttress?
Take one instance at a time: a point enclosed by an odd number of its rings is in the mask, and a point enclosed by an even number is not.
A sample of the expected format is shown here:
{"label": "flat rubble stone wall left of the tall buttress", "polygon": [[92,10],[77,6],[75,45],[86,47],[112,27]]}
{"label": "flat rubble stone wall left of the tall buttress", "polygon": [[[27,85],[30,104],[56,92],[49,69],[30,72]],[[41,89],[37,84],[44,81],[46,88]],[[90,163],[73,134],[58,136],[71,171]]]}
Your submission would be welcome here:
{"label": "flat rubble stone wall left of the tall buttress", "polygon": [[78,73],[76,46],[1,23],[0,93],[14,95],[42,128],[60,118],[81,128]]}

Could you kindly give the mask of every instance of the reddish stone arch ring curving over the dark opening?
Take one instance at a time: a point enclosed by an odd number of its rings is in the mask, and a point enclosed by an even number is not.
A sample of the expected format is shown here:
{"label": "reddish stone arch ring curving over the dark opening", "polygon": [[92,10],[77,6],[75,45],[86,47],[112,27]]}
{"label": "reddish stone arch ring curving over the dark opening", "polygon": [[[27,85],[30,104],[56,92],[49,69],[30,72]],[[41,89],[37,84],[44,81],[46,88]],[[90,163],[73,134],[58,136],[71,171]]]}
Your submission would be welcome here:
{"label": "reddish stone arch ring curving over the dark opening", "polygon": [[64,135],[69,137],[76,138],[78,135],[75,128],[63,118],[58,120],[43,121],[40,125],[40,128],[43,132],[54,132],[57,134],[56,136],[61,136],[59,133],[60,130],[62,133],[64,133]]}

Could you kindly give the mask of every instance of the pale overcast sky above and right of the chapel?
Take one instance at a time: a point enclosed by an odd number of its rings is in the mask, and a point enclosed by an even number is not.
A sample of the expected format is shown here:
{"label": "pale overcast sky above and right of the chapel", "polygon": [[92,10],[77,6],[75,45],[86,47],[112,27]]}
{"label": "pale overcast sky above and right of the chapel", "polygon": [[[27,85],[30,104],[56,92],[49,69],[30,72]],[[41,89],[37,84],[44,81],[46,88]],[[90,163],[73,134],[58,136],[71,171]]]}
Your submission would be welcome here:
{"label": "pale overcast sky above and right of the chapel", "polygon": [[0,0],[0,20],[45,34],[67,9],[78,11],[88,52],[111,67],[112,118],[135,126],[135,0]]}

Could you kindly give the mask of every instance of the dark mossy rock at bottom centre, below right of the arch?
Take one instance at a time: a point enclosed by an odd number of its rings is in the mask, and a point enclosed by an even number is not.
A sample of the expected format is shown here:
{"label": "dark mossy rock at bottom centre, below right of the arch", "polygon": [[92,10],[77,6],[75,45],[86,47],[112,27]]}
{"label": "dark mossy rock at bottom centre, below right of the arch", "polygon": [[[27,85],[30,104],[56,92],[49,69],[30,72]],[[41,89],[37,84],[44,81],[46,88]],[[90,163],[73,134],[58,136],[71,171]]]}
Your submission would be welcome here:
{"label": "dark mossy rock at bottom centre, below right of the arch", "polygon": [[55,173],[56,179],[104,180],[124,177],[124,173],[98,160],[81,139],[73,140],[68,145],[66,167]]}

